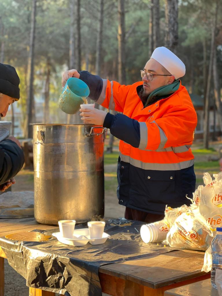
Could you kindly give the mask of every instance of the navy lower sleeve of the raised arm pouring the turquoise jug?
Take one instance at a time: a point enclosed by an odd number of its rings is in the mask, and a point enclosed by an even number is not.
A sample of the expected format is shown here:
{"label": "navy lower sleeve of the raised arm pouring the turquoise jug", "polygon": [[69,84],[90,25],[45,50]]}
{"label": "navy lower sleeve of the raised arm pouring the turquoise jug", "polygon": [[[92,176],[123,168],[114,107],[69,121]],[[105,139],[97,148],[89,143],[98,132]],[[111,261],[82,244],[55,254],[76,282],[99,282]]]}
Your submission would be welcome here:
{"label": "navy lower sleeve of the raised arm pouring the turquoise jug", "polygon": [[84,81],[89,87],[89,98],[96,102],[102,92],[102,78],[97,75],[92,75],[88,71],[79,71],[78,73],[80,74],[79,79]]}

